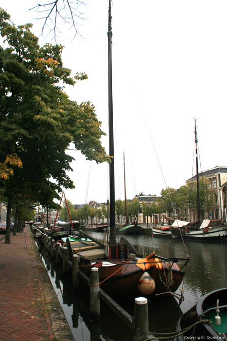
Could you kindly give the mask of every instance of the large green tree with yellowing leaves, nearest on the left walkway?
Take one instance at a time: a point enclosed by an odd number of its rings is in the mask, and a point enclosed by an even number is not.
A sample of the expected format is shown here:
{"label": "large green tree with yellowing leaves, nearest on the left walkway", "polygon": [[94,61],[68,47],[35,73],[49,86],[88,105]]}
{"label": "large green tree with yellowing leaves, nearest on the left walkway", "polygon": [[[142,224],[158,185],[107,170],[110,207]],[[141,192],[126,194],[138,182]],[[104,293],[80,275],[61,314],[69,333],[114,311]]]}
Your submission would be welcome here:
{"label": "large green tree with yellowing leaves, nearest on the left walkway", "polygon": [[[24,190],[33,202],[56,207],[61,187],[74,185],[66,171],[73,160],[71,142],[89,160],[108,161],[101,145],[104,133],[90,102],[80,105],[64,92],[74,78],[63,67],[62,46],[38,45],[32,25],[16,27],[0,9],[0,186],[7,198],[6,243],[10,243],[12,203]],[[63,85],[61,85],[63,84]]]}

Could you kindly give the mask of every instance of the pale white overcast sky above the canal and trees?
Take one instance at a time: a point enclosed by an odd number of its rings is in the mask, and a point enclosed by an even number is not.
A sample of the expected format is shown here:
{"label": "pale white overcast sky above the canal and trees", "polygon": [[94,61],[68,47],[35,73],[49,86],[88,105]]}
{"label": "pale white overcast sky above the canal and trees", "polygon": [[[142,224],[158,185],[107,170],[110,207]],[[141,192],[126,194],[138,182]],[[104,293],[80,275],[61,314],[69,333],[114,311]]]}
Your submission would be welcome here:
{"label": "pale white overcast sky above the canal and trees", "polygon": [[[9,0],[1,6],[15,24],[42,23],[28,11],[44,0]],[[90,100],[108,134],[108,0],[90,0],[81,8],[79,35],[61,24],[58,43],[63,63],[88,79],[66,87],[70,99]],[[159,195],[195,174],[194,118],[201,168],[227,166],[227,1],[113,0],[112,60],[115,131],[115,198],[124,199],[123,150],[127,198],[143,191]],[[40,45],[52,42],[40,37]],[[108,137],[103,138],[108,152]],[[71,147],[73,148],[73,147]],[[65,190],[73,204],[108,198],[108,166],[86,161],[78,151]],[[90,176],[89,176],[90,169]],[[89,184],[88,184],[89,179]]]}

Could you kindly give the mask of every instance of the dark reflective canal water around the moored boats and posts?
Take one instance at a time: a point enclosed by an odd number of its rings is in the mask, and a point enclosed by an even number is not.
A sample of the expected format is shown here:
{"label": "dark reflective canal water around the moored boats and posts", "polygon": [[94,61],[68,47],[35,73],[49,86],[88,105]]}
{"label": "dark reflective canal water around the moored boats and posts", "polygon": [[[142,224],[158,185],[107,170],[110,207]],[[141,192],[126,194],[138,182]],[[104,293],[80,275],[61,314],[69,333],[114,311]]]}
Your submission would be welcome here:
{"label": "dark reflective canal water around the moored boats and posts", "polygon": [[[103,234],[90,234],[102,241]],[[163,257],[186,258],[182,241],[172,238],[145,236],[127,236],[129,242],[139,253],[150,254],[153,251]],[[178,305],[173,296],[159,296],[149,305],[149,331],[151,333],[169,333],[175,331],[180,316],[186,312],[201,295],[227,286],[227,243],[185,241],[190,260],[184,279],[184,301]],[[53,288],[63,308],[72,335],[76,341],[131,341],[132,331],[101,301],[100,322],[93,322],[89,316],[89,290],[82,287],[77,294],[72,290],[72,279],[63,276],[61,269],[51,263],[45,251],[40,255],[47,268]],[[180,294],[180,290],[176,292]],[[133,315],[134,303],[121,303],[122,307]]]}

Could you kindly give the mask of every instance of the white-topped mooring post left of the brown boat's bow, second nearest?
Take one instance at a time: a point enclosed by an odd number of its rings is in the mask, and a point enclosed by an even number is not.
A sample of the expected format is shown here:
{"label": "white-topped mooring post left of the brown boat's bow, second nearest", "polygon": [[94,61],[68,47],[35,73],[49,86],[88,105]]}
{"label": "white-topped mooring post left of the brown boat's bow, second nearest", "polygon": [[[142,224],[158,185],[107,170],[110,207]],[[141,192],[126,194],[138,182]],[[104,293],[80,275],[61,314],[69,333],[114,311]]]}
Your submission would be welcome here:
{"label": "white-topped mooring post left of the brown boat's bow, second nearest", "polygon": [[94,321],[100,319],[99,269],[92,267],[90,272],[90,313]]}

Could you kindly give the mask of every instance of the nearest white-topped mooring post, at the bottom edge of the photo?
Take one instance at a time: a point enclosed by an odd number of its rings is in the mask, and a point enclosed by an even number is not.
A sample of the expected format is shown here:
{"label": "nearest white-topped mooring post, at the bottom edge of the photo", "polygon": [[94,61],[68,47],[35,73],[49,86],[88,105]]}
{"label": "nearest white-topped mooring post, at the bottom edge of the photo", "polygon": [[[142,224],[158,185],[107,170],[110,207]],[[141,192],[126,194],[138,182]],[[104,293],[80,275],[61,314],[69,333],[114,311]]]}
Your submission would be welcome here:
{"label": "nearest white-topped mooring post, at the bottom edge of the photo", "polygon": [[138,297],[134,304],[135,329],[133,341],[143,341],[149,337],[147,299]]}

